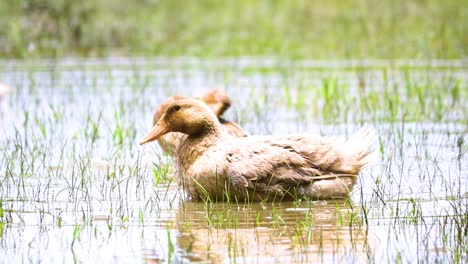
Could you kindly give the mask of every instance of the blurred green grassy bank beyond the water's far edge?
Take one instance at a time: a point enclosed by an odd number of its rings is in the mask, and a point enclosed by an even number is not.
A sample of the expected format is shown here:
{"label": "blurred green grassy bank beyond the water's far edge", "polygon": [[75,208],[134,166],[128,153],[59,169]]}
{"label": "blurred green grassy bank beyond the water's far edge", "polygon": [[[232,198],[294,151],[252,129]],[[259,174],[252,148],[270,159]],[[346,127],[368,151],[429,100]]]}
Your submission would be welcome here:
{"label": "blurred green grassy bank beyond the water's far edge", "polygon": [[1,57],[463,58],[466,0],[6,0]]}

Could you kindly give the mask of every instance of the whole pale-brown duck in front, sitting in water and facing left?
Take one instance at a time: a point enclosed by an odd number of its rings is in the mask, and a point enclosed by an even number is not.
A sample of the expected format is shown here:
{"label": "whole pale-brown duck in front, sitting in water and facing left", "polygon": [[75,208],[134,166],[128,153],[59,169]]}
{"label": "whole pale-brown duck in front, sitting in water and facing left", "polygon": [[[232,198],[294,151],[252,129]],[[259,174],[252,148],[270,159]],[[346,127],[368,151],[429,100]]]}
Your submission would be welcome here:
{"label": "whole pale-brown duck in front, sitting in water and facing left", "polygon": [[326,200],[347,198],[359,173],[376,159],[375,132],[350,138],[316,135],[234,137],[200,100],[171,103],[140,140],[186,135],[175,152],[180,186],[193,199],[211,201]]}

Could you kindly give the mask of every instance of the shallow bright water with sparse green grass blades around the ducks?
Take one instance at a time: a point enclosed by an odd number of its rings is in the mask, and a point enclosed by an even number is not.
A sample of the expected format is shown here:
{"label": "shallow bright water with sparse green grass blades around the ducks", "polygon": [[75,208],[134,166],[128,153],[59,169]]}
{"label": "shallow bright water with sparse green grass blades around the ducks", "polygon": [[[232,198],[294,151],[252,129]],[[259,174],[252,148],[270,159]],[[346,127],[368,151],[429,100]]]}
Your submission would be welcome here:
{"label": "shallow bright water with sparse green grass blades around the ducks", "polygon": [[[0,262],[468,258],[464,61],[0,65],[0,81],[13,88],[0,102]],[[227,118],[251,134],[350,135],[368,124],[380,160],[349,200],[189,201],[171,159],[137,139],[166,97],[212,87],[231,95]]]}

